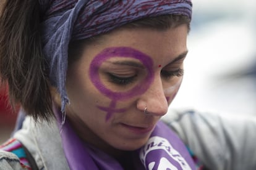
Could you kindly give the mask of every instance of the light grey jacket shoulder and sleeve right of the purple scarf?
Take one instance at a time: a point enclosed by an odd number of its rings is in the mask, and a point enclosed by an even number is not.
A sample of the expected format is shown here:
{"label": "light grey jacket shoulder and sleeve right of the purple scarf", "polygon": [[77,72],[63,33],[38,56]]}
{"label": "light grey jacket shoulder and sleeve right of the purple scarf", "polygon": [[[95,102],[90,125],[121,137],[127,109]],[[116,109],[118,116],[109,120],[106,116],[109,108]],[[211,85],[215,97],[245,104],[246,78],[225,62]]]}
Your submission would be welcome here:
{"label": "light grey jacket shoulder and sleeve right of the purple scarf", "polygon": [[164,121],[207,168],[256,169],[256,117],[195,111],[171,111],[169,115]]}

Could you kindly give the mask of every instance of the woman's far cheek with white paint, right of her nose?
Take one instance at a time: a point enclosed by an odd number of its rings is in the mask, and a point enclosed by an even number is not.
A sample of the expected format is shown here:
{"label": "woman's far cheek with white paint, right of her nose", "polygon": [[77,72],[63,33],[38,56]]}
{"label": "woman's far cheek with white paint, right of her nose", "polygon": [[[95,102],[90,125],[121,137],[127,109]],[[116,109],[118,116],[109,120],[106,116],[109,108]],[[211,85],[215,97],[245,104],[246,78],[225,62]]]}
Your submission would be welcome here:
{"label": "woman's far cheek with white paint, right of her nose", "polygon": [[166,95],[166,100],[168,104],[170,104],[176,97],[176,94],[179,91],[179,87],[181,87],[181,83],[182,78],[179,78],[175,84],[173,84],[172,86],[168,86],[166,87],[166,89],[164,89],[164,94]]}

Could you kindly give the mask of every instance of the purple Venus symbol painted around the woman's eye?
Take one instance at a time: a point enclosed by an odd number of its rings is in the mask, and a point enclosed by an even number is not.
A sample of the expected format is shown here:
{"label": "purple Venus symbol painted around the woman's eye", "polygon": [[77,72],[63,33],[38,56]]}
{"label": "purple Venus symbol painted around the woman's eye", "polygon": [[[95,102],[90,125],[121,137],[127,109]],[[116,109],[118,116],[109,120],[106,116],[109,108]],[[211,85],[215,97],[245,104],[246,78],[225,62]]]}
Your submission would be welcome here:
{"label": "purple Venus symbol painted around the woman's eye", "polygon": [[[101,83],[98,69],[105,60],[108,60],[112,57],[133,58],[139,60],[147,69],[147,76],[140,84],[137,84],[137,86],[133,87],[128,91],[111,91],[103,83]],[[150,87],[150,84],[154,79],[153,60],[148,55],[143,54],[142,52],[132,49],[130,47],[109,47],[101,51],[100,54],[96,55],[95,58],[92,60],[92,63],[90,65],[90,79],[94,86],[102,94],[107,96],[109,99],[112,99],[108,107],[97,106],[98,108],[100,108],[100,110],[106,111],[106,121],[108,121],[108,119],[111,118],[114,113],[122,113],[126,110],[126,108],[116,108],[116,102],[118,100],[126,100],[135,97],[136,95],[143,94],[145,91],[147,91],[148,87]]]}

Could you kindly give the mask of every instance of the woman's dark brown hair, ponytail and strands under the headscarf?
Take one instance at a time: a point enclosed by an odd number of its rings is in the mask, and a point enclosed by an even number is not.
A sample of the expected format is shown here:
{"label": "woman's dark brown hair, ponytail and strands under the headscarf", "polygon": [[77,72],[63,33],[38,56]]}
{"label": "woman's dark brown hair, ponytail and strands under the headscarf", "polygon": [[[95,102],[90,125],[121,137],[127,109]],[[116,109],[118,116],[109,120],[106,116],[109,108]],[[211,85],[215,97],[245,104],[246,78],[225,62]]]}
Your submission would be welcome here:
{"label": "woman's dark brown hair, ponytail and strands under the headscarf", "polygon": [[[12,106],[20,103],[33,118],[49,120],[53,116],[48,66],[41,50],[40,14],[36,0],[5,1],[0,9],[0,76],[9,85]],[[121,28],[164,30],[190,20],[183,15],[144,18]],[[118,28],[120,29],[120,28]],[[83,47],[100,36],[70,42],[69,64],[79,59]],[[104,40],[103,40],[104,41]]]}

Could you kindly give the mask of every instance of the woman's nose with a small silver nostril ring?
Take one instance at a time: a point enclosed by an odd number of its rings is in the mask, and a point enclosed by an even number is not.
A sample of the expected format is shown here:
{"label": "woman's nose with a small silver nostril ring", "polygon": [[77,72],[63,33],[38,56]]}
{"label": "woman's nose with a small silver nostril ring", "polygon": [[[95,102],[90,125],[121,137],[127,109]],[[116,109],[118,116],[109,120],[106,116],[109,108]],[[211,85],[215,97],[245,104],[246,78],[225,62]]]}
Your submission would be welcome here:
{"label": "woman's nose with a small silver nostril ring", "polygon": [[168,101],[164,94],[161,78],[155,79],[148,90],[137,100],[137,109],[154,116],[163,116],[168,111]]}

